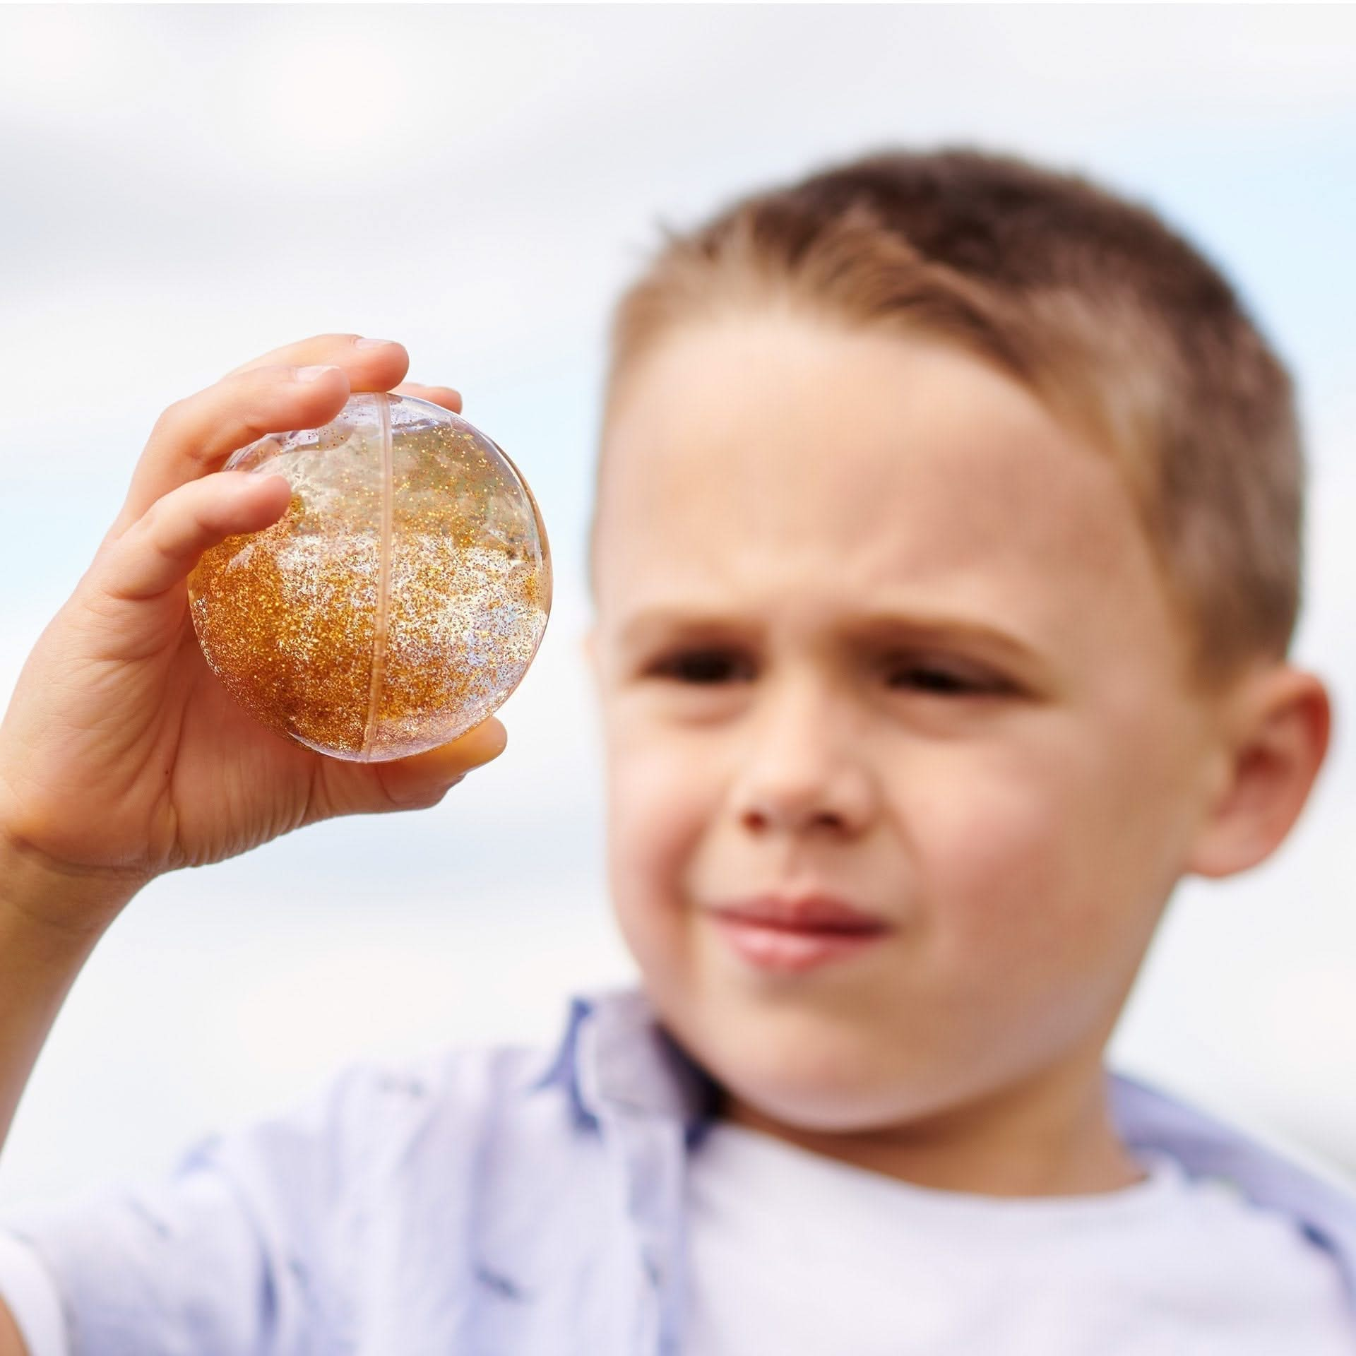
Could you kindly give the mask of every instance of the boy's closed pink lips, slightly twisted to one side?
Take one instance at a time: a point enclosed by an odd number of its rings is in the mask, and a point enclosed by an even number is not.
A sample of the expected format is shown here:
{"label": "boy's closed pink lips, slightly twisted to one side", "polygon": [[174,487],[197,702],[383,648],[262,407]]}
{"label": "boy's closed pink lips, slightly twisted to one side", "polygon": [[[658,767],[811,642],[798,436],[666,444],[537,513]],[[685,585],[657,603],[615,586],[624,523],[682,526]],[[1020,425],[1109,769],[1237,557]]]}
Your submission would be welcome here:
{"label": "boy's closed pink lips, slightly twisted to one side", "polygon": [[711,915],[746,964],[793,974],[857,956],[891,930],[883,918],[830,895],[761,895],[717,904]]}

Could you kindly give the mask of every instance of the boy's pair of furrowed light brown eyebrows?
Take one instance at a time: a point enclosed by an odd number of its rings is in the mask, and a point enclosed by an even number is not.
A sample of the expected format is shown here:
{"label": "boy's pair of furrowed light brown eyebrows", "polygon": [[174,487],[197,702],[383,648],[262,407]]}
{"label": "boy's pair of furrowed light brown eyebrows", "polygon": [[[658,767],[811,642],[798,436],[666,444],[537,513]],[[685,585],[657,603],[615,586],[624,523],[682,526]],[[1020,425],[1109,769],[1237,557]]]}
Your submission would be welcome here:
{"label": "boy's pair of furrowed light brown eyebrows", "polygon": [[[702,612],[686,607],[650,607],[637,612],[618,631],[618,643],[625,648],[643,648],[667,635],[706,636],[711,639],[746,633],[747,621],[735,613]],[[1047,671],[1037,645],[1020,636],[990,626],[968,617],[919,612],[860,612],[852,613],[837,628],[842,636],[876,644],[974,645],[1032,670]]]}

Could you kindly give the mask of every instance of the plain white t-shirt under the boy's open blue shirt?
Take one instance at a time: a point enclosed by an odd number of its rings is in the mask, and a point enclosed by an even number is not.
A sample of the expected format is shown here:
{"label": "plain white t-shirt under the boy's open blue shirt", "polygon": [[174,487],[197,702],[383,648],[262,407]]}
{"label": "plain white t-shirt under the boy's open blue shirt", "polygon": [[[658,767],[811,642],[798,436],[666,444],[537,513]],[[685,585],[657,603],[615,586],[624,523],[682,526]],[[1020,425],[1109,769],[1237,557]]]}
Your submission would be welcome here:
{"label": "plain white t-shirt under the boy's open blue shirt", "polygon": [[682,1356],[1353,1356],[1332,1257],[1176,1159],[1115,1192],[914,1186],[717,1123]]}

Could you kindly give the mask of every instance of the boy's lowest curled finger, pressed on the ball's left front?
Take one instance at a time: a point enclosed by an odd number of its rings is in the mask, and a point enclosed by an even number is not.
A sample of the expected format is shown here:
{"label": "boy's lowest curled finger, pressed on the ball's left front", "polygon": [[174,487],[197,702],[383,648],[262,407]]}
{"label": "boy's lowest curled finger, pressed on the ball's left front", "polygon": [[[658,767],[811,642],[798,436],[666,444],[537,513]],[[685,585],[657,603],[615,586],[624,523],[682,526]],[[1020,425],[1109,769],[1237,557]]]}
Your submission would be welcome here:
{"label": "boy's lowest curled finger, pressed on the ball's left front", "polygon": [[159,499],[83,580],[115,602],[149,602],[179,590],[198,557],[236,533],[277,522],[292,500],[282,476],[218,471]]}

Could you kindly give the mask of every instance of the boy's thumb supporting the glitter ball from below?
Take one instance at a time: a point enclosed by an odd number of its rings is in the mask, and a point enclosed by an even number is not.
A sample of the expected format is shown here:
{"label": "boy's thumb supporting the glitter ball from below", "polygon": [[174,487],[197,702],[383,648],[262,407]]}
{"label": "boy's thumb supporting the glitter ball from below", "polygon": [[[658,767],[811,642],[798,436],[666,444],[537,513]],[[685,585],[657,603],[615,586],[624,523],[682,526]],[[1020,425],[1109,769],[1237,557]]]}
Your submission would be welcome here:
{"label": "boy's thumb supporting the glitter ball from below", "polygon": [[412,758],[381,763],[321,759],[320,812],[374,815],[393,810],[427,810],[476,767],[498,758],[509,743],[509,731],[487,717],[460,739],[439,744]]}

